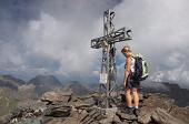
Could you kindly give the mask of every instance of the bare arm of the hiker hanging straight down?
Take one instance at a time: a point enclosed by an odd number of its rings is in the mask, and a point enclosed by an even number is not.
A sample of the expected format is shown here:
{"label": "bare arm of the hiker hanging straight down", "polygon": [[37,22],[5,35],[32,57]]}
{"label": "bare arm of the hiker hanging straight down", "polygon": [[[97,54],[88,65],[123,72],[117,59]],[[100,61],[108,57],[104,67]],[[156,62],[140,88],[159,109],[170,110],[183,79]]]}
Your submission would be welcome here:
{"label": "bare arm of the hiker hanging straight down", "polygon": [[131,58],[127,58],[127,59],[126,59],[126,62],[127,62],[127,66],[126,66],[126,70],[125,70],[125,80],[123,80],[125,86],[126,86],[126,84],[127,84],[127,79],[128,79],[129,73],[130,73]]}

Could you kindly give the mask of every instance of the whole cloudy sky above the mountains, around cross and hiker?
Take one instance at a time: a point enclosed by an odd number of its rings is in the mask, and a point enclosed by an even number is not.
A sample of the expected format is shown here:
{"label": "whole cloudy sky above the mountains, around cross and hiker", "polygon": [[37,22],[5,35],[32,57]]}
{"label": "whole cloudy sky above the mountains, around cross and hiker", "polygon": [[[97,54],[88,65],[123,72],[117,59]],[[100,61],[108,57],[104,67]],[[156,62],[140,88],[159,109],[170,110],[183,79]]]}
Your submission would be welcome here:
{"label": "whole cloudy sky above the mountains, around cross and hiker", "polygon": [[120,50],[129,44],[147,59],[149,81],[189,87],[188,0],[1,0],[0,74],[98,81],[101,49],[90,40],[102,35],[107,9],[116,12],[116,29],[132,30],[133,40],[116,44],[119,81]]}

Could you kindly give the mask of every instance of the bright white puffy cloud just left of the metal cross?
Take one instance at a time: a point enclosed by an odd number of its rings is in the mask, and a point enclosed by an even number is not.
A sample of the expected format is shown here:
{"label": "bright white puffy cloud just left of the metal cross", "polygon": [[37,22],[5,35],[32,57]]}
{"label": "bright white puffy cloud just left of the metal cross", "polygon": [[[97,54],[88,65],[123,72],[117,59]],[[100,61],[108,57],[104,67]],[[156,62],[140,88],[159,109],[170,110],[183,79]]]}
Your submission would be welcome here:
{"label": "bright white puffy cloud just left of the metal cross", "polygon": [[28,30],[23,33],[23,44],[28,55],[38,54],[48,58],[49,61],[58,61],[59,74],[84,74],[93,66],[92,61],[97,55],[90,49],[90,32],[83,29],[83,31],[73,30],[74,24],[41,13],[41,19],[30,21]]}

